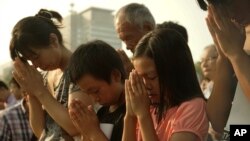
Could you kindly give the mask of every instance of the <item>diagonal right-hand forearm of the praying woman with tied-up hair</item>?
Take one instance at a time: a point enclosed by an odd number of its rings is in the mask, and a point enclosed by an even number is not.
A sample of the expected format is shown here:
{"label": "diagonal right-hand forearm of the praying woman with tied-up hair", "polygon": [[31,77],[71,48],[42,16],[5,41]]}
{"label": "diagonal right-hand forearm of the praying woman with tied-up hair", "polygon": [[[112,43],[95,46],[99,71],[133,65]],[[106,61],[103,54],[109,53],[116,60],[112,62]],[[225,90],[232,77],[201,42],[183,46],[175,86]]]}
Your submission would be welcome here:
{"label": "diagonal right-hand forearm of the praying woman with tied-up hair", "polygon": [[43,108],[47,113],[62,127],[68,134],[75,136],[78,134],[75,126],[73,125],[68,109],[60,104],[46,89],[37,96],[37,99],[42,103]]}

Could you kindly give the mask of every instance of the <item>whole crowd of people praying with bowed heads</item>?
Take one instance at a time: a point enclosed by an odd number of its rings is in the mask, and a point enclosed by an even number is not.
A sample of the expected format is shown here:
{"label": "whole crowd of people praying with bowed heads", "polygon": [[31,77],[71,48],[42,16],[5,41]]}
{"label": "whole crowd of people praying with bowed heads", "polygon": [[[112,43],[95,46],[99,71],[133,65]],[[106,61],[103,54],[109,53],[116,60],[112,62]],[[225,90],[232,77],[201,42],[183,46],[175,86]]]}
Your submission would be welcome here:
{"label": "whole crowd of people praying with bowed heads", "polygon": [[114,16],[132,58],[98,39],[71,52],[56,11],[19,20],[13,78],[0,81],[0,140],[229,141],[230,124],[250,124],[250,1],[197,2],[214,41],[201,53],[201,79],[187,29],[156,24],[143,4]]}

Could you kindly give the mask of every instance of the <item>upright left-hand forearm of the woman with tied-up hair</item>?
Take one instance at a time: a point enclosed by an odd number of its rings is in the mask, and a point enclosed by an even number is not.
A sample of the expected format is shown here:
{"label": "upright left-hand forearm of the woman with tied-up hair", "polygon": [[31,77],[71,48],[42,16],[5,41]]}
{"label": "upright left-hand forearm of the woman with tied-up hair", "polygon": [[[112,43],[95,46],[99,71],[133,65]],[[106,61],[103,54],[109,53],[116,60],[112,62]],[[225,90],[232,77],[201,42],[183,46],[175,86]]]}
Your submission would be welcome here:
{"label": "upright left-hand forearm of the woman with tied-up hair", "polygon": [[44,111],[41,103],[34,96],[29,96],[29,119],[34,134],[39,138],[45,126]]}

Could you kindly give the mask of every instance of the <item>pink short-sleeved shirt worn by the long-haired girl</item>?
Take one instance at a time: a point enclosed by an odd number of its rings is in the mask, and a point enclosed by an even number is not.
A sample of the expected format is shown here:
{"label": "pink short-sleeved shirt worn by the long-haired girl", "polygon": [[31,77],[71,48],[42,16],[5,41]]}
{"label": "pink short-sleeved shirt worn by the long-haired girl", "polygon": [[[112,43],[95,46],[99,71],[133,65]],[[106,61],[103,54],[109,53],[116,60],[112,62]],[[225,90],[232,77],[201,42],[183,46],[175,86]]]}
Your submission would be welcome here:
{"label": "pink short-sleeved shirt worn by the long-haired girl", "polygon": [[[206,102],[202,98],[194,98],[183,102],[180,106],[168,110],[165,118],[158,124],[155,108],[151,108],[156,134],[159,141],[169,141],[177,132],[191,132],[198,138],[197,141],[205,141],[208,134],[208,118],[206,114]],[[137,140],[142,141],[137,129]]]}

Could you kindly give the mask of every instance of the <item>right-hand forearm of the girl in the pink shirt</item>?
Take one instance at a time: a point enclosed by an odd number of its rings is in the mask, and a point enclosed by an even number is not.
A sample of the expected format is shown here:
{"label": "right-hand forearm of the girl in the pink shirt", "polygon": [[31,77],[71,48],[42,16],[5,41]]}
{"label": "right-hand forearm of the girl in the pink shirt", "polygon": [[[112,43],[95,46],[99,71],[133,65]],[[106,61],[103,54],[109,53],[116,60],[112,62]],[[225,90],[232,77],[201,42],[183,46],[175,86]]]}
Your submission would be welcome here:
{"label": "right-hand forearm of the girl in the pink shirt", "polygon": [[146,116],[138,117],[138,122],[143,141],[159,141],[150,113]]}

